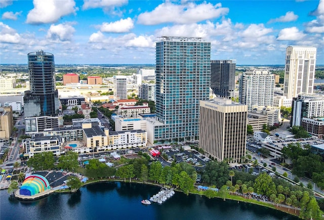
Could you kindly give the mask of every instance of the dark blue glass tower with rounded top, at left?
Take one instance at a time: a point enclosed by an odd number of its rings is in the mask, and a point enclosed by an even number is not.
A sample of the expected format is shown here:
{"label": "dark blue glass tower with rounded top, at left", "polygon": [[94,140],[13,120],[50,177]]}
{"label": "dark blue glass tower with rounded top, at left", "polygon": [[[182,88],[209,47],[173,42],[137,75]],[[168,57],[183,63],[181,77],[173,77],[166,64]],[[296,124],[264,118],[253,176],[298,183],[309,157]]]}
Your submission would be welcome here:
{"label": "dark blue glass tower with rounded top, at left", "polygon": [[43,50],[28,53],[28,73],[30,90],[24,96],[25,117],[57,116],[54,55]]}

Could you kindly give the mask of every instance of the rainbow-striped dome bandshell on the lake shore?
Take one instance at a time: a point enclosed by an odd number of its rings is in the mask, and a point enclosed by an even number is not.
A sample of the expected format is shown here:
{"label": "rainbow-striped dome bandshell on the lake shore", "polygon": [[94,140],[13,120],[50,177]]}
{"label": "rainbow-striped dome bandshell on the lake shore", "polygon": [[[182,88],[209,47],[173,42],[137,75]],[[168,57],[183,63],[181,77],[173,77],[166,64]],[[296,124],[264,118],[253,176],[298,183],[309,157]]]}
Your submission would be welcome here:
{"label": "rainbow-striped dome bandshell on the lake shore", "polygon": [[41,175],[33,174],[26,177],[20,187],[19,194],[33,196],[48,189],[51,189],[49,181]]}

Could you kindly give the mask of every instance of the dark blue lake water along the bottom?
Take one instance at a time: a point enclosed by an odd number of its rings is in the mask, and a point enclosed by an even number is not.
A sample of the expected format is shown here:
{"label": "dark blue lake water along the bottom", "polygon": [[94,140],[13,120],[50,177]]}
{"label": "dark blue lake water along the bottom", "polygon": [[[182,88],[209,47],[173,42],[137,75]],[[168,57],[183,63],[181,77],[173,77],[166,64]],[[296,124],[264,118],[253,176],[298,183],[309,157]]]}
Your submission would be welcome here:
{"label": "dark blue lake water along the bottom", "polygon": [[249,203],[186,196],[176,192],[163,204],[141,204],[160,190],[135,183],[102,182],[73,194],[52,194],[36,201],[9,198],[0,191],[0,219],[298,219]]}

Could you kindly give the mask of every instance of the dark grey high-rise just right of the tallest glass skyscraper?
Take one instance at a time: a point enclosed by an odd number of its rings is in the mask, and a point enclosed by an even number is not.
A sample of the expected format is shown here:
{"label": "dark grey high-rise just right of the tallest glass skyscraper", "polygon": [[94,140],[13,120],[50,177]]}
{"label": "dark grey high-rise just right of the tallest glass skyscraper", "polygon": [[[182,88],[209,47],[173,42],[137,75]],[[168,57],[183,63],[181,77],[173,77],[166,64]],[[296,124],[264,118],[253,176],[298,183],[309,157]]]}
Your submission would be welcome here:
{"label": "dark grey high-rise just right of the tallest glass skyscraper", "polygon": [[234,97],[235,68],[236,60],[211,61],[211,88],[216,96]]}

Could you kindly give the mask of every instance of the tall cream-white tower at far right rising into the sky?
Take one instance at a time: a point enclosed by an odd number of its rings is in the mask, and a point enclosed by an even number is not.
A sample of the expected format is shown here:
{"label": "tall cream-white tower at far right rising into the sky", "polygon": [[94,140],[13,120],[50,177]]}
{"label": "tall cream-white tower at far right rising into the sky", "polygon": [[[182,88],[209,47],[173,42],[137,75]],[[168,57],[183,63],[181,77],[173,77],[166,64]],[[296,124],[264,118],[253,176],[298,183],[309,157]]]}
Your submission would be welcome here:
{"label": "tall cream-white tower at far right rising into the sky", "polygon": [[297,97],[299,93],[313,93],[315,64],[315,47],[287,47],[284,95],[288,99]]}

